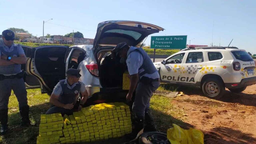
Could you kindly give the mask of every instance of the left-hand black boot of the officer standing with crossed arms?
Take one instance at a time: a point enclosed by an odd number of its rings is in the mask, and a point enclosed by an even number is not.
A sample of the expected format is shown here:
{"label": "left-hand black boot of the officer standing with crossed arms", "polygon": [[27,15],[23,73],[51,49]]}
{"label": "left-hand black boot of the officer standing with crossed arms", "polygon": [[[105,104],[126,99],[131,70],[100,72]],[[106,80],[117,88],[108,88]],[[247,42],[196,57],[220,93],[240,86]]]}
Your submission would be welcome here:
{"label": "left-hand black boot of the officer standing with crossed arms", "polygon": [[8,109],[0,109],[0,122],[2,125],[0,135],[5,135],[8,131]]}

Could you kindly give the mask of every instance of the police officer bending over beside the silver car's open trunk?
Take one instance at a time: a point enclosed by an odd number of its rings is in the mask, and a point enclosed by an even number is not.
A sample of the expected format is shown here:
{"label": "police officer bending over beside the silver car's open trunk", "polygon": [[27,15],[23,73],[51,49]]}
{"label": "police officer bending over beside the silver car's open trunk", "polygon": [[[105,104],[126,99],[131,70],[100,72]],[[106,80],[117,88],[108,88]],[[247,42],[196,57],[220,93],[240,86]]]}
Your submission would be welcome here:
{"label": "police officer bending over beside the silver car's open trunk", "polygon": [[128,102],[131,101],[132,94],[137,86],[132,106],[132,111],[135,113],[135,130],[133,133],[137,135],[138,131],[143,128],[144,120],[144,131],[156,131],[149,109],[149,102],[153,92],[160,85],[158,71],[142,48],[129,47],[125,42],[122,42],[116,45],[113,51],[120,57],[126,59],[128,71],[131,76],[130,89],[126,96]]}

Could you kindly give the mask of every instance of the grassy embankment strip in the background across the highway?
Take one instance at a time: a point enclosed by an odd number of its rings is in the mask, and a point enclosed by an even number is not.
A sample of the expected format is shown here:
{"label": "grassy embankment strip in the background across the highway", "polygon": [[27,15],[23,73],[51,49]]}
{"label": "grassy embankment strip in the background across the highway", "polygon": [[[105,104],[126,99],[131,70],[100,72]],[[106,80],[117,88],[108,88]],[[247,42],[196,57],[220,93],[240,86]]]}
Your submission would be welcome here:
{"label": "grassy embankment strip in the background across the highway", "polygon": [[[15,41],[15,44],[21,44],[29,47],[39,47],[39,46],[48,46],[48,45],[59,45],[59,44],[42,44],[42,43],[27,43],[27,42],[17,42]],[[71,47],[73,45],[67,45],[65,44],[64,46]],[[144,47],[143,48],[147,54],[154,54],[154,49],[151,49],[149,47]],[[179,52],[179,50],[172,50],[172,49],[156,49],[156,54],[157,55],[172,55]]]}

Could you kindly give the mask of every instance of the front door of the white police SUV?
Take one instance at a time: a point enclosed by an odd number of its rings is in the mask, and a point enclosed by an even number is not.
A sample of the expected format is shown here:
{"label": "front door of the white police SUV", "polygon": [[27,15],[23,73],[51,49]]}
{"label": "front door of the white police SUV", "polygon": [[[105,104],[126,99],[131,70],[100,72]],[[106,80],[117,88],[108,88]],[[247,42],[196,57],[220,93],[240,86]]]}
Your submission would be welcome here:
{"label": "front door of the white police SUV", "polygon": [[167,58],[160,67],[161,81],[166,83],[177,83],[181,81],[181,70],[186,52],[179,53]]}

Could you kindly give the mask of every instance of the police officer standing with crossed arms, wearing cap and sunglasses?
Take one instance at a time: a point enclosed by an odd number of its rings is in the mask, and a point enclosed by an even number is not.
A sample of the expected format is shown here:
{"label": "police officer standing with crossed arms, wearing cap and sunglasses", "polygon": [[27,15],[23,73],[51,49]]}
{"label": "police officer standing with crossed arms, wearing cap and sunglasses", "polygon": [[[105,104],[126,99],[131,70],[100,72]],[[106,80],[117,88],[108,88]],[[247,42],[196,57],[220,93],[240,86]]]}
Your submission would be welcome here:
{"label": "police officer standing with crossed arms, wearing cap and sunglasses", "polygon": [[24,83],[24,71],[21,64],[27,61],[26,55],[20,45],[13,43],[14,32],[4,30],[2,32],[3,43],[0,43],[0,134],[6,134],[8,130],[8,103],[13,90],[19,102],[19,112],[22,117],[22,126],[29,126],[29,106],[27,91]]}

